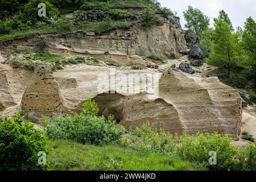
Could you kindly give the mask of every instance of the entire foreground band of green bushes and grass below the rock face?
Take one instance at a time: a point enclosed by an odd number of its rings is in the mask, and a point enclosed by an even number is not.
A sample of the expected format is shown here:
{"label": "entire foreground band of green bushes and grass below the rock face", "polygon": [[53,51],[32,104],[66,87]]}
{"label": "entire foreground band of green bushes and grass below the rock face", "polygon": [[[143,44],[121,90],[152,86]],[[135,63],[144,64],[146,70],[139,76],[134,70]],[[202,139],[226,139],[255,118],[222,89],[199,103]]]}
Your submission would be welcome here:
{"label": "entire foreground band of green bushes and grass below the rock face", "polygon": [[[0,123],[0,170],[255,170],[256,144],[237,147],[220,134],[173,137],[145,123],[128,131],[114,116],[98,116],[89,98],[80,114],[46,119],[44,133],[19,115]],[[48,152],[46,165],[38,152]],[[77,143],[76,143],[77,142]],[[209,164],[216,152],[216,164]]]}

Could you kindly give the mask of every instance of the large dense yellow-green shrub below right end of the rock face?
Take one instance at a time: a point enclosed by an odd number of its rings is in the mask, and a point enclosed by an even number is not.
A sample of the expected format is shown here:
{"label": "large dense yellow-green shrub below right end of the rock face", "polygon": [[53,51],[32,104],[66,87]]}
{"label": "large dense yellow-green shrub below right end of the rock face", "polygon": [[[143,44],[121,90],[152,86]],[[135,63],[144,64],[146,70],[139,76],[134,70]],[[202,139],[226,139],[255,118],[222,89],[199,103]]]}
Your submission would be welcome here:
{"label": "large dense yellow-green shrub below right end of the rock face", "polygon": [[[183,135],[176,146],[176,154],[182,159],[197,161],[212,170],[232,169],[236,148],[230,143],[232,141],[230,138],[221,137],[217,133],[214,135],[198,133],[195,137]],[[208,162],[210,151],[216,152],[216,165],[210,165]]]}

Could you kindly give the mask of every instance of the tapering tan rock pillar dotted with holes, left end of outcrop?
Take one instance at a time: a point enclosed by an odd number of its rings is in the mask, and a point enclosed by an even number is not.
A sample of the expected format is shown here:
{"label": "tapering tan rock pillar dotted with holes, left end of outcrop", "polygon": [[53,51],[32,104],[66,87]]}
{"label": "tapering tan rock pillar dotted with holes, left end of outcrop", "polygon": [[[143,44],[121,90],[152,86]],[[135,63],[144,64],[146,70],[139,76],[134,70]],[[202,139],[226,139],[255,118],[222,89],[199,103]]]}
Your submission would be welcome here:
{"label": "tapering tan rock pillar dotted with holes, left end of outcrop", "polygon": [[23,94],[21,109],[28,118],[40,118],[42,115],[53,117],[62,113],[60,88],[52,75],[51,67],[36,67],[34,80]]}

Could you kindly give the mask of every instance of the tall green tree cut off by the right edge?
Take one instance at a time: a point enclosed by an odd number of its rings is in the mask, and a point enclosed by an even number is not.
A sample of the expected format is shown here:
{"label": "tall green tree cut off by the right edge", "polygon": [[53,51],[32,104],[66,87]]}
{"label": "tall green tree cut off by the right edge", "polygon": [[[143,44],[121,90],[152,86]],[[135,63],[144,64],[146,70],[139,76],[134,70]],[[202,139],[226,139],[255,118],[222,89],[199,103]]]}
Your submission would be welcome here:
{"label": "tall green tree cut off by the right edge", "polygon": [[254,89],[256,90],[256,23],[253,18],[246,19],[242,32],[242,46],[245,51],[243,67],[254,75]]}

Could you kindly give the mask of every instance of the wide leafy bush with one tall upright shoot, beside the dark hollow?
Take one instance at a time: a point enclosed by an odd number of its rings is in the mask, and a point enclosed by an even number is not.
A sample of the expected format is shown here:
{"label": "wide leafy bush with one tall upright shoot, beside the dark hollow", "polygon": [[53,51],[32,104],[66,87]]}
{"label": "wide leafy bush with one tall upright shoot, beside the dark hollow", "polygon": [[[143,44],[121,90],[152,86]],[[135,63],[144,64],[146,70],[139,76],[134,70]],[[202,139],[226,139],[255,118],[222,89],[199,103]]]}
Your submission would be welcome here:
{"label": "wide leafy bush with one tall upright shoot, beside the dark hollow", "polygon": [[81,114],[74,117],[57,117],[53,125],[46,124],[46,135],[51,139],[67,139],[80,143],[106,144],[118,141],[125,133],[122,126],[115,125],[112,115],[108,119],[98,117],[98,107],[89,98]]}

